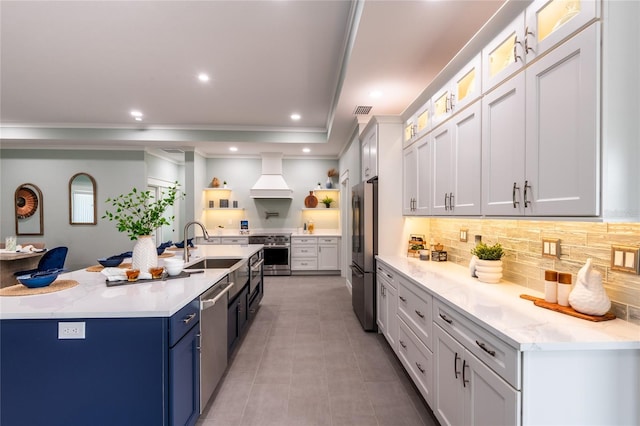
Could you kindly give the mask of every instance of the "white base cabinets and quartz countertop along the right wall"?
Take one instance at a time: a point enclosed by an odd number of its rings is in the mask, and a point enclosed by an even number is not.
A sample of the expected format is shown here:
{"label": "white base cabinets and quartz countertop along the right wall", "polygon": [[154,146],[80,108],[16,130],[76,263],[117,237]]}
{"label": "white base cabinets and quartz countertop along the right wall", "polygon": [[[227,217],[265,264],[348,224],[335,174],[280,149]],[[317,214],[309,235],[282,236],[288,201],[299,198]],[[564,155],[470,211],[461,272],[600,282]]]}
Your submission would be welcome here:
{"label": "white base cabinets and quartz countertop along the right wall", "polygon": [[442,425],[640,422],[637,325],[545,310],[449,262],[378,256],[377,277],[380,333]]}

